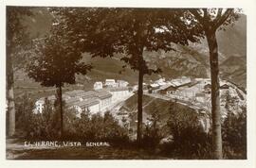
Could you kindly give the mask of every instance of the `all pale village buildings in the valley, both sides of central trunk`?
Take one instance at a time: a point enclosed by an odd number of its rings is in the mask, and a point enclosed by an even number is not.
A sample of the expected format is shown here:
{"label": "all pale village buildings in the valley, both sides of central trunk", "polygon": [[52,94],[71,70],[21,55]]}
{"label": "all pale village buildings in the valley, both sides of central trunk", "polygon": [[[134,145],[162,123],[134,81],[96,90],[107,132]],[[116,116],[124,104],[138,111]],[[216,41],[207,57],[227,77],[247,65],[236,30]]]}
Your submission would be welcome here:
{"label": "all pale village buildings in the valley, both sides of central trunk", "polygon": [[[221,81],[221,94],[231,91],[231,96],[237,96],[235,87],[227,81]],[[101,112],[113,108],[113,105],[119,101],[133,95],[137,91],[137,85],[129,86],[129,83],[124,80],[105,79],[104,82],[96,81],[93,85],[93,90],[83,91],[75,90],[64,92],[63,99],[65,106],[70,109],[76,109],[77,116],[80,116],[82,110],[89,110],[90,113]],[[229,88],[233,90],[229,90]],[[143,83],[144,92],[159,93],[171,98],[184,100],[187,102],[197,102],[203,106],[210,106],[210,78],[190,78],[181,76],[172,80],[159,78],[150,84]],[[53,104],[55,95],[40,98],[35,103],[35,113],[42,113],[46,99]],[[225,105],[225,100],[222,99],[221,105]]]}

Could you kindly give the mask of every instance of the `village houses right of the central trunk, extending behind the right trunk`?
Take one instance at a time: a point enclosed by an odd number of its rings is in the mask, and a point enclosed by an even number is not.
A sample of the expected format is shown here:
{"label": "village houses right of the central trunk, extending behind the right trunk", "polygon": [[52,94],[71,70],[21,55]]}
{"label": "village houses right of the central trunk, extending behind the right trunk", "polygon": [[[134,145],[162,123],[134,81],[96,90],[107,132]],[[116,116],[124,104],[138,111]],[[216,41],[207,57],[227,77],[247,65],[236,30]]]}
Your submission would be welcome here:
{"label": "village houses right of the central trunk, extending behind the right trunk", "polygon": [[[227,81],[221,81],[221,93],[225,94],[231,85]],[[147,92],[160,93],[177,99],[196,101],[203,104],[210,104],[211,92],[210,78],[190,78],[181,76],[172,80],[160,78],[148,85]],[[231,90],[233,91],[233,90]],[[231,92],[231,96],[236,96],[236,92]]]}

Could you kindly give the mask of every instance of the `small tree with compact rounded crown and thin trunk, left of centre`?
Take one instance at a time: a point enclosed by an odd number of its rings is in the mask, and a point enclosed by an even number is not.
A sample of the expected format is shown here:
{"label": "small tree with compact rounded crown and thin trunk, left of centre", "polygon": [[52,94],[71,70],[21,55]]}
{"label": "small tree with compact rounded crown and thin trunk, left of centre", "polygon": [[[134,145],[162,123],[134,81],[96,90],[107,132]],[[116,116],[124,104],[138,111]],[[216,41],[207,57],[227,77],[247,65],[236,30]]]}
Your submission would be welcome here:
{"label": "small tree with compact rounded crown and thin trunk, left of centre", "polygon": [[85,75],[92,67],[81,61],[81,53],[66,40],[63,26],[53,25],[49,36],[34,43],[35,56],[27,67],[28,76],[43,86],[55,86],[57,88],[57,103],[61,115],[61,136],[63,137],[62,88],[64,83],[74,84],[76,74]]}

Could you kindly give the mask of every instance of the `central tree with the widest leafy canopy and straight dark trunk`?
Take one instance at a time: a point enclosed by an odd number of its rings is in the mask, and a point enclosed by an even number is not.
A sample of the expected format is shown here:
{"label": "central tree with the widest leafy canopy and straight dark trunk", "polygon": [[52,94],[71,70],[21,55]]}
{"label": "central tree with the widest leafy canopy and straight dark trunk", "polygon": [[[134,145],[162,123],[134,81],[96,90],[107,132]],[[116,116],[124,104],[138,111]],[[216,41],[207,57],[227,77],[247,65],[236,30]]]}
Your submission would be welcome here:
{"label": "central tree with the widest leafy canopy and straight dark trunk", "polygon": [[142,135],[143,76],[160,73],[145,61],[144,51],[174,50],[173,44],[197,42],[199,29],[182,9],[164,8],[57,8],[69,34],[82,52],[92,57],[113,57],[115,54],[127,66],[138,71],[137,143]]}

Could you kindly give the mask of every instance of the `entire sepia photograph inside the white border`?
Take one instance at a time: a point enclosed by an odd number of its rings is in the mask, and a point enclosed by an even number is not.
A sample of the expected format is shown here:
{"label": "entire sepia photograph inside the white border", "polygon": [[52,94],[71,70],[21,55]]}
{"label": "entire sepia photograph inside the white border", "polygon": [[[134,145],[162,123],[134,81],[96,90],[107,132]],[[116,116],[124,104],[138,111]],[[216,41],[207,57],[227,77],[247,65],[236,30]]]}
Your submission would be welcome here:
{"label": "entire sepia photograph inside the white border", "polygon": [[6,160],[247,160],[244,8],[5,8]]}

